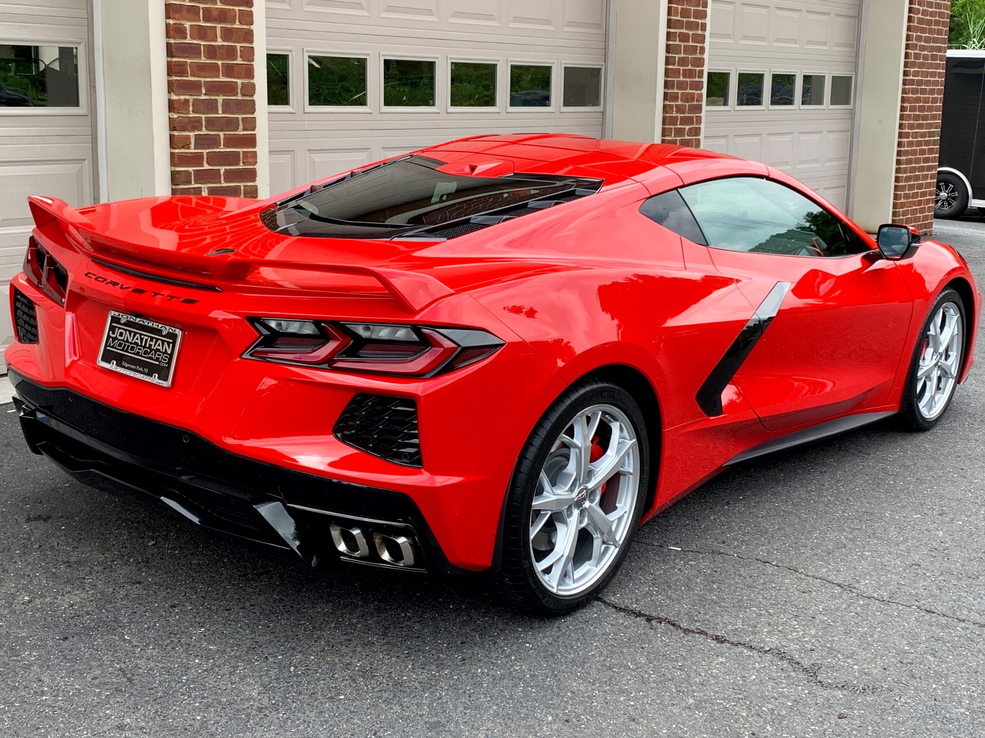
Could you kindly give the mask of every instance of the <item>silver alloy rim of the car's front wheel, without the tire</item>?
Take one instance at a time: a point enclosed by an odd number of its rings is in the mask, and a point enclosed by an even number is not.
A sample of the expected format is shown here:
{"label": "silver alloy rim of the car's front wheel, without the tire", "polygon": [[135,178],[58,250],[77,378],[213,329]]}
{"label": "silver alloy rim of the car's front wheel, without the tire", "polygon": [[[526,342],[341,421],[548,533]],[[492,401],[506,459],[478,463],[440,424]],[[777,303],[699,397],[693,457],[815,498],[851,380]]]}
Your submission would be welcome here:
{"label": "silver alloy rim of the car's front wheel, without the tire", "polygon": [[962,333],[961,314],[952,302],[941,305],[927,326],[916,382],[917,409],[927,420],[944,412],[951,400],[961,368]]}

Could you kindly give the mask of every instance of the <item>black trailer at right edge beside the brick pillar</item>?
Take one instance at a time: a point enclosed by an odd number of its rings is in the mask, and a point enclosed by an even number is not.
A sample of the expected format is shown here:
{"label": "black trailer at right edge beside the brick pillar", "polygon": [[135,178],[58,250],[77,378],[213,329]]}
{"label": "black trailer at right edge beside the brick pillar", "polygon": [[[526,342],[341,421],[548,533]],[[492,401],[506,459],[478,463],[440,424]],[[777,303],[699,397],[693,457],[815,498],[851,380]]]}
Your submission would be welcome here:
{"label": "black trailer at right edge beside the brick pillar", "polygon": [[948,51],[935,217],[985,208],[985,50]]}

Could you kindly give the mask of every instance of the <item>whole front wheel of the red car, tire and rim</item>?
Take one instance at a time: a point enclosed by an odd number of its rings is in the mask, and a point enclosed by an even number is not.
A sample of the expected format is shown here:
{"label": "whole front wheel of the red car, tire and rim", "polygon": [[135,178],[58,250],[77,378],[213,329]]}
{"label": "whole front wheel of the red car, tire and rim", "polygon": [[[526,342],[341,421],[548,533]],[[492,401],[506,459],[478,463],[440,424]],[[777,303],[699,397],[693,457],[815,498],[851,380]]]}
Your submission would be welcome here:
{"label": "whole front wheel of the red car, tire and rim", "polygon": [[934,300],[913,350],[899,408],[904,428],[928,431],[944,417],[963,365],[966,331],[964,303],[949,287]]}

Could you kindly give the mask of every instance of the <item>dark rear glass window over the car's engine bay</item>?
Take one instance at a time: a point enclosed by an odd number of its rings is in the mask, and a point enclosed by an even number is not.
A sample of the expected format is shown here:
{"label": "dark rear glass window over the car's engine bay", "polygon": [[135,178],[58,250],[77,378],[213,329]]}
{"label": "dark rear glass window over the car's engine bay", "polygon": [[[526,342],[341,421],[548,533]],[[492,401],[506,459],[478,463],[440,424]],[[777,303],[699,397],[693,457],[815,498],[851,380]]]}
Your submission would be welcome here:
{"label": "dark rear glass window over the car's engine bay", "polygon": [[533,200],[564,195],[573,199],[589,194],[581,188],[598,189],[601,184],[578,177],[474,177],[437,171],[443,165],[426,156],[410,156],[356,172],[285,203],[279,224],[295,225],[291,232],[297,234],[316,230],[317,235],[334,237],[388,238],[508,211]]}

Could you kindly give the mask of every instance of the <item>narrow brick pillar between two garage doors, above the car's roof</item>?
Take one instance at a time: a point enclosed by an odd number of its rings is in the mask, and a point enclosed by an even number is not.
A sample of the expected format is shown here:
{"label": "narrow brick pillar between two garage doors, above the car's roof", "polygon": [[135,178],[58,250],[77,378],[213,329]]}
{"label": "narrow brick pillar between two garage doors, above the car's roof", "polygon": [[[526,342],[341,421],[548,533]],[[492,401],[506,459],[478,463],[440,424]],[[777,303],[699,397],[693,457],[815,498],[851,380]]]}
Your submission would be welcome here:
{"label": "narrow brick pillar between two garage doors, above the car's roof", "polygon": [[708,0],[669,1],[661,131],[665,144],[701,145],[707,26]]}

